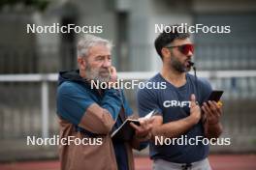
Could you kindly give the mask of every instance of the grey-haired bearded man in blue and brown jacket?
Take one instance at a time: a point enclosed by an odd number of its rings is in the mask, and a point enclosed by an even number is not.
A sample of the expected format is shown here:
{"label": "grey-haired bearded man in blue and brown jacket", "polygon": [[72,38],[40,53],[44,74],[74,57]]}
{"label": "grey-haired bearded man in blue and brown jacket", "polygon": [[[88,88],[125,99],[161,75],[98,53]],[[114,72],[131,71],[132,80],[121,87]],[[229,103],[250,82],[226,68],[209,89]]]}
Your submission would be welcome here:
{"label": "grey-haired bearded man in blue and brown jacket", "polygon": [[141,142],[148,139],[147,120],[140,121],[131,141],[112,143],[112,130],[133,112],[121,90],[96,89],[91,83],[113,85],[116,81],[111,50],[111,42],[86,35],[78,43],[79,70],[59,74],[57,114],[62,170],[132,170],[132,148],[146,146]]}

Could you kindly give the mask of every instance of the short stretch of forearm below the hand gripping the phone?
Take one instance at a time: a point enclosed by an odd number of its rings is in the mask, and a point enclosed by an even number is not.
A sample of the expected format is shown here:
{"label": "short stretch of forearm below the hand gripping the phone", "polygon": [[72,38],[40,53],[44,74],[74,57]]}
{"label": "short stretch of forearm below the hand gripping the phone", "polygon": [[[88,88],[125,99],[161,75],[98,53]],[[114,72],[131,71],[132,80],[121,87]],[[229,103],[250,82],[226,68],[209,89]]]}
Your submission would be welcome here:
{"label": "short stretch of forearm below the hand gripping the phone", "polygon": [[220,123],[217,124],[208,124],[208,122],[204,125],[205,128],[205,136],[210,138],[218,138],[222,133],[222,126]]}

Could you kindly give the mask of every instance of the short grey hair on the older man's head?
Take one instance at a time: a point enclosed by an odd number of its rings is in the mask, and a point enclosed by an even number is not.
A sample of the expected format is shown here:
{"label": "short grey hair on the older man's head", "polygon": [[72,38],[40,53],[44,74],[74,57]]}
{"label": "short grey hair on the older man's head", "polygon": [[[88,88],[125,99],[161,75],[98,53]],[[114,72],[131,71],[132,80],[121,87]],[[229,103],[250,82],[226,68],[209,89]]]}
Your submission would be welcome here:
{"label": "short grey hair on the older man's head", "polygon": [[90,34],[85,34],[78,42],[78,57],[87,56],[89,48],[98,44],[106,45],[109,49],[112,49],[112,42]]}

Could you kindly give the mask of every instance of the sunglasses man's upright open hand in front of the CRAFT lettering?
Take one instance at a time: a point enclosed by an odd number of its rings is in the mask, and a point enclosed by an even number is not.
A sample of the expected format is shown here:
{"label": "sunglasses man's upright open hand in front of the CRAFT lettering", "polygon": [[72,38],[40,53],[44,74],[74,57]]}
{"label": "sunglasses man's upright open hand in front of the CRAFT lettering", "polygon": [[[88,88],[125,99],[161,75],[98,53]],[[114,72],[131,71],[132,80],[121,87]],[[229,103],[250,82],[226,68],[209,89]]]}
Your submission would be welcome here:
{"label": "sunglasses man's upright open hand in front of the CRAFT lettering", "polygon": [[196,103],[196,97],[194,94],[191,95],[190,117],[194,124],[197,124],[201,119],[201,110],[199,105]]}

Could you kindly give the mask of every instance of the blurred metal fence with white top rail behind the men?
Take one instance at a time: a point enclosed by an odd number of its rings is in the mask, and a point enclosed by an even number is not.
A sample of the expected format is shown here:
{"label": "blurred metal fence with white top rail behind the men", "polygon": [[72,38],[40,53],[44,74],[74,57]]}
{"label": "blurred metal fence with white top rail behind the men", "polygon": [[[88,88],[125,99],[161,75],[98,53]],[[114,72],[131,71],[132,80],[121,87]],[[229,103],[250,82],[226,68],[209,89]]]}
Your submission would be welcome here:
{"label": "blurred metal fence with white top rail behind the men", "polygon": [[[144,81],[155,73],[120,72],[118,75],[125,81]],[[198,75],[207,77],[214,89],[225,91],[222,136],[230,137],[232,145],[212,147],[212,150],[255,152],[256,71],[199,71]],[[0,75],[0,143],[8,141],[8,147],[16,140],[25,143],[28,135],[58,134],[56,80],[55,73]],[[136,89],[125,90],[125,94],[137,112]]]}

